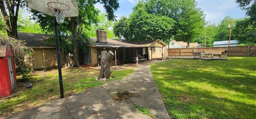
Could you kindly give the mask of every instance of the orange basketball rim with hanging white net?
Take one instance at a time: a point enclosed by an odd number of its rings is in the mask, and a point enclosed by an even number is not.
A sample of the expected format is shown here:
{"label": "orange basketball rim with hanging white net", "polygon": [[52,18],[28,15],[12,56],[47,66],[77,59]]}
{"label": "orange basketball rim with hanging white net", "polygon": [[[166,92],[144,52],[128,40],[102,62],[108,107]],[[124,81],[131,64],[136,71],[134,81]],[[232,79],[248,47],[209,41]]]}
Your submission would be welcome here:
{"label": "orange basketball rim with hanging white net", "polygon": [[48,7],[52,10],[58,23],[63,23],[64,18],[69,10],[69,6],[59,2],[49,2]]}

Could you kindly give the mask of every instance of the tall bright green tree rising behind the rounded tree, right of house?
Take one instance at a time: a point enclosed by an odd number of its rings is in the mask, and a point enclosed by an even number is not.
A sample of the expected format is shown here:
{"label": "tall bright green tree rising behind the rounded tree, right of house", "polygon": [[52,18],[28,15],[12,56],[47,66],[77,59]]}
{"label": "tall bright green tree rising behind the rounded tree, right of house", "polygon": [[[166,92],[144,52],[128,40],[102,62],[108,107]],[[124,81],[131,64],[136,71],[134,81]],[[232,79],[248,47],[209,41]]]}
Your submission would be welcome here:
{"label": "tall bright green tree rising behind the rounded tree, right of house", "polygon": [[169,36],[174,35],[175,40],[187,42],[187,47],[202,32],[204,14],[196,7],[195,0],[145,0],[144,3],[148,13],[167,16],[175,21]]}

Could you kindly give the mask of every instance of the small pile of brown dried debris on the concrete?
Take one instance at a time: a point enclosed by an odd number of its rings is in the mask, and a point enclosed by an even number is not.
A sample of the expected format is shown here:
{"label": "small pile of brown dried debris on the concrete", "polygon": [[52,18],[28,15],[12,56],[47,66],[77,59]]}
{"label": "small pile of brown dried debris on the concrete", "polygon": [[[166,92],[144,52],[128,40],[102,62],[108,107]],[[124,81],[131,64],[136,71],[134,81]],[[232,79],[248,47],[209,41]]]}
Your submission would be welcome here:
{"label": "small pile of brown dried debris on the concrete", "polygon": [[124,90],[124,92],[117,91],[116,95],[113,97],[113,100],[115,101],[124,101],[131,97],[137,97],[139,98],[140,95],[136,93],[128,92],[127,90]]}

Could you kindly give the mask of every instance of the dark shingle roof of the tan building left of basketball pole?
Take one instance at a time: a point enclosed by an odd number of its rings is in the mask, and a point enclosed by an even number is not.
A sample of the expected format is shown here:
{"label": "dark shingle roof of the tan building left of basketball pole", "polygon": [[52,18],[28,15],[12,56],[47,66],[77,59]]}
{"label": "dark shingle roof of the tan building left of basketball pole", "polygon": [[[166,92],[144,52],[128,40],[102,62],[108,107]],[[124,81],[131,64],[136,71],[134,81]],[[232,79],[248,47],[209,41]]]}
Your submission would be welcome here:
{"label": "dark shingle roof of the tan building left of basketball pole", "polygon": [[53,35],[18,32],[18,39],[25,40],[27,47],[55,47],[54,42],[47,42],[47,39],[52,36]]}

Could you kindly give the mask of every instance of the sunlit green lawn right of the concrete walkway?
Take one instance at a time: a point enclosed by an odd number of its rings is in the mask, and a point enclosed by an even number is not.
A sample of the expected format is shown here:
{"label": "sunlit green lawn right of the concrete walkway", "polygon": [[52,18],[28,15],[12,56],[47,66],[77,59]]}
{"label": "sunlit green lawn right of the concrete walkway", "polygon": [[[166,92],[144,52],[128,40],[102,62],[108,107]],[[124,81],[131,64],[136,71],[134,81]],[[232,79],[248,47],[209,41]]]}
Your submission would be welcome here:
{"label": "sunlit green lawn right of the concrete walkway", "polygon": [[151,64],[173,118],[255,118],[256,57]]}

